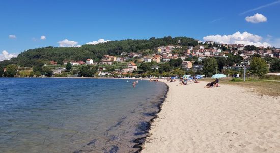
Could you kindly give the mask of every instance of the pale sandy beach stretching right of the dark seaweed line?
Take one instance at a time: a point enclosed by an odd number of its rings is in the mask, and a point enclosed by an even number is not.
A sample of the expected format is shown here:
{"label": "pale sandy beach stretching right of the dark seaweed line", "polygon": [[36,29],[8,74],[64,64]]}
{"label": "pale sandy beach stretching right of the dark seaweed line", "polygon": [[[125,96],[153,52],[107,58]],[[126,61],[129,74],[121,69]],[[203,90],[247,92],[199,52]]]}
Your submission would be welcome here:
{"label": "pale sandy beach stretching right of the dark seaweed line", "polygon": [[206,83],[167,83],[142,152],[280,152],[279,97]]}

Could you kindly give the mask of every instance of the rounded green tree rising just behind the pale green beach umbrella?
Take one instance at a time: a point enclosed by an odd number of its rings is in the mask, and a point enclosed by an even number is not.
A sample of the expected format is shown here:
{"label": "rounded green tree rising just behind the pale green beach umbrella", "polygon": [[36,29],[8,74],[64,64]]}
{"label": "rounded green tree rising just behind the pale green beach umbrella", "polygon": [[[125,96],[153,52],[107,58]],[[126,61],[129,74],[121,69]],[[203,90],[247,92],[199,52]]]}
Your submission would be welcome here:
{"label": "rounded green tree rising just behind the pale green beach umbrella", "polygon": [[213,74],[215,74],[216,68],[218,68],[216,59],[208,57],[204,60],[203,72],[207,77],[211,77]]}

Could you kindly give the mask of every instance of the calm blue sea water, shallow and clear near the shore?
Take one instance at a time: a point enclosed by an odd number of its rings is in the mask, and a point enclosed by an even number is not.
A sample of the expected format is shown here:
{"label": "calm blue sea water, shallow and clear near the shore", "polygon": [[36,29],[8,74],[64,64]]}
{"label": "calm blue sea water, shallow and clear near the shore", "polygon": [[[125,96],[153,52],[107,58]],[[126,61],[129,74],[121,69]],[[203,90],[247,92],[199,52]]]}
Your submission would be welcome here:
{"label": "calm blue sea water, shallow and clear near the shore", "polygon": [[133,152],[166,92],[126,79],[0,78],[0,152]]}

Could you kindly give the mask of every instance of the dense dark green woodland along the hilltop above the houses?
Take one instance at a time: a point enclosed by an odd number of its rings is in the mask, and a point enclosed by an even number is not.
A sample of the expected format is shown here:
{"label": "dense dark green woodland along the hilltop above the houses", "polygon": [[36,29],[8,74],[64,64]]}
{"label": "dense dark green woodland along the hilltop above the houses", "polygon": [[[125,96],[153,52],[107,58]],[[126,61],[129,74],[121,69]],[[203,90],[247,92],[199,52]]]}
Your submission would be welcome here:
{"label": "dense dark green woodland along the hilltop above the houses", "polygon": [[162,45],[182,45],[195,46],[197,40],[187,37],[167,36],[164,38],[150,38],[149,40],[120,40],[100,43],[96,45],[82,45],[77,47],[44,47],[29,49],[20,53],[16,58],[4,60],[0,62],[0,66],[8,64],[17,64],[19,66],[33,66],[40,62],[59,61],[59,60],[82,60],[94,59],[98,60],[103,55],[120,55],[122,52],[140,52],[145,49],[154,49]]}

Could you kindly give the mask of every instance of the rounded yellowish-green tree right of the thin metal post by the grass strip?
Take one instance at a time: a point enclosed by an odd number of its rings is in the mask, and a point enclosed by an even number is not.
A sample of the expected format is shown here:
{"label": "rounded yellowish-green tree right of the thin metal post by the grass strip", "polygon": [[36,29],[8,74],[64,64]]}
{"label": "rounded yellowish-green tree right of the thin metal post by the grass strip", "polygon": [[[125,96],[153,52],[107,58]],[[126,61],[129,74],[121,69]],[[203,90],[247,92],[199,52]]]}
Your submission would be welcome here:
{"label": "rounded yellowish-green tree right of the thin metal post by the grass strip", "polygon": [[268,73],[268,66],[265,60],[260,57],[254,57],[251,60],[251,72],[257,76],[263,76]]}

